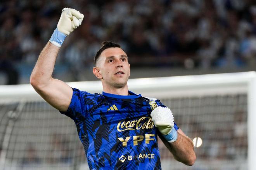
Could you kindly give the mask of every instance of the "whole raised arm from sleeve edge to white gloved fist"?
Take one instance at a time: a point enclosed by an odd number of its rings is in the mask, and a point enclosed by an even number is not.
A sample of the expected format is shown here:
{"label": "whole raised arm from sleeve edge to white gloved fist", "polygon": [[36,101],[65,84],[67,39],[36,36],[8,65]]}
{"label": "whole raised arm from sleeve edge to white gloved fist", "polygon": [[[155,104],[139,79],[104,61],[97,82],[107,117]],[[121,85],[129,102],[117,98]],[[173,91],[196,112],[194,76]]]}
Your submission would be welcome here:
{"label": "whole raised arm from sleeve edge to white gloved fist", "polygon": [[60,111],[66,111],[73,91],[63,81],[52,78],[55,61],[59,49],[69,33],[81,25],[83,14],[74,10],[64,8],[50,42],[48,42],[40,53],[36,65],[30,76],[30,83],[42,98],[50,105]]}

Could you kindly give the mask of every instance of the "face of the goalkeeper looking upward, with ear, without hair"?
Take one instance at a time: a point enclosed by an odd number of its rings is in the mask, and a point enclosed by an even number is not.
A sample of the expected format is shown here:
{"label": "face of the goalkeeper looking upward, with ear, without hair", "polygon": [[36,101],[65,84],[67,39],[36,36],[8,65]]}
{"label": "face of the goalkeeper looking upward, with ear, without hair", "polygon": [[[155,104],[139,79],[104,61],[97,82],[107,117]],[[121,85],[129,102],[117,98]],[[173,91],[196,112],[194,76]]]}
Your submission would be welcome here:
{"label": "face of the goalkeeper looking upward, with ear, without hair", "polygon": [[95,76],[102,84],[113,88],[122,88],[130,76],[130,64],[126,53],[118,47],[104,50],[93,69]]}

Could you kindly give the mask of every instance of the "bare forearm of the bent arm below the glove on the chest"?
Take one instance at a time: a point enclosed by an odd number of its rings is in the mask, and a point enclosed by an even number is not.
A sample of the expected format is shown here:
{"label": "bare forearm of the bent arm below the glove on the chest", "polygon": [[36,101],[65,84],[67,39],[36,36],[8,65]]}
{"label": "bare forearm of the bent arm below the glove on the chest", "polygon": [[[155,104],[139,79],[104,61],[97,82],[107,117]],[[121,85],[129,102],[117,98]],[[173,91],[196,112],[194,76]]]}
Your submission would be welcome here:
{"label": "bare forearm of the bent arm below the glove on the chest", "polygon": [[178,138],[175,142],[169,143],[171,153],[176,160],[186,164],[193,165],[196,159],[194,145],[189,137],[178,132]]}

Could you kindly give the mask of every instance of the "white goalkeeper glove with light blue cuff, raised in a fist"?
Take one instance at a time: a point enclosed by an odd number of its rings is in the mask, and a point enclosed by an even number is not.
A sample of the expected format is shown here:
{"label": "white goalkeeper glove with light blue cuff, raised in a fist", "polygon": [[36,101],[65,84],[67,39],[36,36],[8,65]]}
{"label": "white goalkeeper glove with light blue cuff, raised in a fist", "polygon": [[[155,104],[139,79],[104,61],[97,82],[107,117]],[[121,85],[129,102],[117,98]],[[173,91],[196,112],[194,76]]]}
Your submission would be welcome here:
{"label": "white goalkeeper glove with light blue cuff, raised in a fist", "polygon": [[64,39],[74,29],[81,25],[83,21],[83,14],[71,8],[62,9],[61,18],[59,19],[57,28],[54,30],[50,38],[50,42],[57,47],[61,47]]}

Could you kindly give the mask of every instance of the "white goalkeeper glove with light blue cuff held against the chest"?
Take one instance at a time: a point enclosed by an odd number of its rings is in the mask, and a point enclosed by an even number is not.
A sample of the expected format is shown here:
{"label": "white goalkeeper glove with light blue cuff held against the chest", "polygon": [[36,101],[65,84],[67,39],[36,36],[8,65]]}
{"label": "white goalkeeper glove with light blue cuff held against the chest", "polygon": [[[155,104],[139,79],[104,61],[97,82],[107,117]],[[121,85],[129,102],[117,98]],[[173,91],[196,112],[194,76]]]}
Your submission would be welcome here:
{"label": "white goalkeeper glove with light blue cuff held against the chest", "polygon": [[168,107],[158,106],[151,112],[150,116],[155,127],[158,128],[169,143],[177,140],[178,133],[174,128],[173,113]]}

